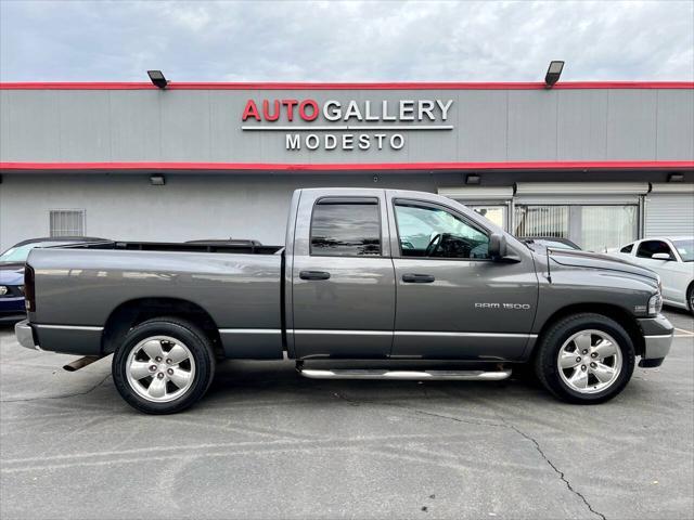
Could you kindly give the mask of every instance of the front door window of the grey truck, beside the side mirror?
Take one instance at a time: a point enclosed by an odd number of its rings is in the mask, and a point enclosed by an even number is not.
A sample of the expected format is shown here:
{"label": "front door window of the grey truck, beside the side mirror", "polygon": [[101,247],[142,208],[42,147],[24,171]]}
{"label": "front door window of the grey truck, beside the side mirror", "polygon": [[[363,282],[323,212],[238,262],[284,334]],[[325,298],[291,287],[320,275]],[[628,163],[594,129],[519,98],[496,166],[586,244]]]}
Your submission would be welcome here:
{"label": "front door window of the grey truck, beside the side mirror", "polygon": [[396,202],[402,257],[489,259],[489,236],[444,208]]}

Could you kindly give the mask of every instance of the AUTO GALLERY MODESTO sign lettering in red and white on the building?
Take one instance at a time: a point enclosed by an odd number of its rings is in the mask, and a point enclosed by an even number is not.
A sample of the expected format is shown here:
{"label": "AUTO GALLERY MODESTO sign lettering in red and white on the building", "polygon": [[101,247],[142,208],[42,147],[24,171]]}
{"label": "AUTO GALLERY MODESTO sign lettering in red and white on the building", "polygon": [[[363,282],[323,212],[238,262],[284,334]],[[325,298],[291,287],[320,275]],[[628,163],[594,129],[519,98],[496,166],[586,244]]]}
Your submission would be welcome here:
{"label": "AUTO GALLERY MODESTO sign lettering in red and white on the building", "polygon": [[453,100],[248,100],[241,129],[283,132],[288,151],[402,150],[411,132],[452,130],[452,105]]}

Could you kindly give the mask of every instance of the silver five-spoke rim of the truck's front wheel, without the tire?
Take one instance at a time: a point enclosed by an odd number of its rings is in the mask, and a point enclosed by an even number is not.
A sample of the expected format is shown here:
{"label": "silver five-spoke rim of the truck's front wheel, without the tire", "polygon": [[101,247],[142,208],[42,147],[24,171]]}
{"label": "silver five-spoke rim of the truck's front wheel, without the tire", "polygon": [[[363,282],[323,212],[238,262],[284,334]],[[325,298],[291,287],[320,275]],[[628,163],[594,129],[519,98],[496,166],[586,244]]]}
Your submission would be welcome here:
{"label": "silver five-spoke rim of the truck's front wheel, without the tire", "polygon": [[602,330],[581,330],[560,350],[557,366],[562,380],[580,393],[597,393],[614,385],[621,372],[621,349]]}

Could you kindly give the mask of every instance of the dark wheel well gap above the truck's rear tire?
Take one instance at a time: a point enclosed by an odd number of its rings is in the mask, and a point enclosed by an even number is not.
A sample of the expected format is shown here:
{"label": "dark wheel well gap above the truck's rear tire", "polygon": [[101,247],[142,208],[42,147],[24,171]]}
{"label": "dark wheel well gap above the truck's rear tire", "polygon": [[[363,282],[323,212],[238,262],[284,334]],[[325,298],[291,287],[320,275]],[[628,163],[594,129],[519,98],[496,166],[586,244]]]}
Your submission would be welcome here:
{"label": "dark wheel well gap above the truck's rear tire", "polygon": [[209,313],[196,303],[178,298],[140,298],[118,306],[106,320],[101,341],[102,353],[113,353],[128,330],[159,316],[178,317],[195,324],[211,341],[215,353],[221,353],[219,329]]}

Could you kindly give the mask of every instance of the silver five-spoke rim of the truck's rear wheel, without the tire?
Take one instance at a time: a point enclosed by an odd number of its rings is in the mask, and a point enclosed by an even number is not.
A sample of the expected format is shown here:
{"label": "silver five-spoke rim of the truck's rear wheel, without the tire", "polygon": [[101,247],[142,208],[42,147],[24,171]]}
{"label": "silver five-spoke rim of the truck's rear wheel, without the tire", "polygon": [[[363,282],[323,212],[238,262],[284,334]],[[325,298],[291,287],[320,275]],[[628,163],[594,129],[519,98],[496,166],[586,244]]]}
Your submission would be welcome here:
{"label": "silver five-spoke rim of the truck's rear wheel, without the tire", "polygon": [[154,403],[168,403],[193,385],[195,361],[189,348],[168,336],[143,339],[130,351],[127,379],[138,395]]}

